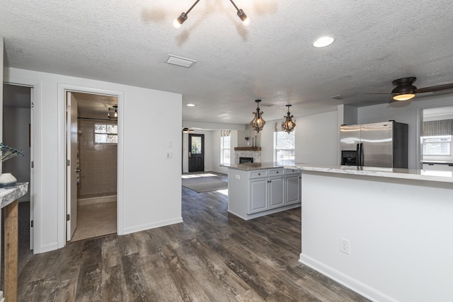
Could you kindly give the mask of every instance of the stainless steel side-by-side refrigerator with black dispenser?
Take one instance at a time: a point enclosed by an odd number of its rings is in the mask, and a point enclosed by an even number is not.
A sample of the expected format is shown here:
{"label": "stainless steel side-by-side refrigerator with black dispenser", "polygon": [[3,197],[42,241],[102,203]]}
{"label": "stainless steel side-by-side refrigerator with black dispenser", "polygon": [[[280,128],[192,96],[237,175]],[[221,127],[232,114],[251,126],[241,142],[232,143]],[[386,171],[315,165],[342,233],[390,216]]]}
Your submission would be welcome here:
{"label": "stainless steel side-by-side refrigerator with black dispenser", "polygon": [[343,125],[340,150],[342,165],[408,168],[408,124]]}

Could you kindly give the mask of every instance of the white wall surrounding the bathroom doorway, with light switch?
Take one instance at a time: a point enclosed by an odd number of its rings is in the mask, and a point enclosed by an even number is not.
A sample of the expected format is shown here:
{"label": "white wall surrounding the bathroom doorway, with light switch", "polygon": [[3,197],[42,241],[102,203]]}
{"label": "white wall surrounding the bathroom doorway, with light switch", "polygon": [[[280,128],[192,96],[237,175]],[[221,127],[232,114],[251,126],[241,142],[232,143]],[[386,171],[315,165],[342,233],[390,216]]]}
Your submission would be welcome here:
{"label": "white wall surrounding the bathroom doorway, with light switch", "polygon": [[[65,244],[66,88],[118,95],[118,233],[182,221],[182,122],[166,122],[182,114],[182,95],[23,69],[6,68],[4,76],[6,82],[34,86],[34,252]],[[162,124],[165,135],[156,130]],[[166,159],[168,151],[173,159]]]}

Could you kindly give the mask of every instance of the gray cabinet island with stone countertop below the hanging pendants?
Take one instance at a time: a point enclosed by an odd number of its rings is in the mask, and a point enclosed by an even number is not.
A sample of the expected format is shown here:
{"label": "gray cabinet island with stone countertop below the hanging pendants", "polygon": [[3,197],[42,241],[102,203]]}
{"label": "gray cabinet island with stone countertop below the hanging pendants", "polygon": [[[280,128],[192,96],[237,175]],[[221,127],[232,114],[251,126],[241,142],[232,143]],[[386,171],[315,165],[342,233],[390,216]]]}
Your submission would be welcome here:
{"label": "gray cabinet island with stone countertop below the hanging pendants", "polygon": [[228,167],[228,211],[248,220],[300,207],[301,175],[280,163],[239,163]]}

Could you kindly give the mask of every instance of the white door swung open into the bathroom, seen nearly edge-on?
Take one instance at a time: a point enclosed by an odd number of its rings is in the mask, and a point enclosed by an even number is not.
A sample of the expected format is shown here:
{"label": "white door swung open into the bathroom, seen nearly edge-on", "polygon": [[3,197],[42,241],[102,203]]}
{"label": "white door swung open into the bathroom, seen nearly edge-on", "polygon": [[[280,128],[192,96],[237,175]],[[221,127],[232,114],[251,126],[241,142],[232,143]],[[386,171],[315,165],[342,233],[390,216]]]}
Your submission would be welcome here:
{"label": "white door swung open into the bathroom, seen nearly edge-on", "polygon": [[67,240],[71,240],[77,227],[77,100],[67,92],[66,158],[67,158]]}

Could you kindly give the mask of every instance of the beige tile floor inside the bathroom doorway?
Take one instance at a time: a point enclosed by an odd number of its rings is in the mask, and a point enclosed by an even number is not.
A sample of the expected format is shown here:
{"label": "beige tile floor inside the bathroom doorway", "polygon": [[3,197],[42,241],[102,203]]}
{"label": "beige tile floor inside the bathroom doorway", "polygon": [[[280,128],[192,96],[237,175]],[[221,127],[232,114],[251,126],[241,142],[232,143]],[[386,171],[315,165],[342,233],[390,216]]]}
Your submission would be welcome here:
{"label": "beige tile floor inside the bathroom doorway", "polygon": [[88,204],[77,208],[77,228],[71,242],[116,233],[116,202]]}

